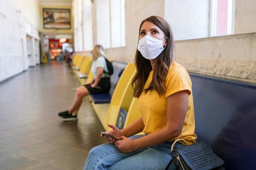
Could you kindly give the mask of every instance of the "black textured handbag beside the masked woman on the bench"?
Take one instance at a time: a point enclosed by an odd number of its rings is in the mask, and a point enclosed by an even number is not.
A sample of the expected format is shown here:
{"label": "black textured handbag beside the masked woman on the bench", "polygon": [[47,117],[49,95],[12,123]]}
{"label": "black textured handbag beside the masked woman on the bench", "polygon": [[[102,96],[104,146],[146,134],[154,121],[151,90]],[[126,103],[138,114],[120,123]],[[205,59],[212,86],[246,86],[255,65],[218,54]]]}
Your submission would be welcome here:
{"label": "black textured handbag beside the masked woman on the bench", "polygon": [[[177,141],[184,141],[187,146],[173,149]],[[171,162],[175,164],[175,170],[225,170],[220,159],[204,142],[188,145],[184,139],[177,139],[171,147],[172,160],[165,170],[168,170]]]}

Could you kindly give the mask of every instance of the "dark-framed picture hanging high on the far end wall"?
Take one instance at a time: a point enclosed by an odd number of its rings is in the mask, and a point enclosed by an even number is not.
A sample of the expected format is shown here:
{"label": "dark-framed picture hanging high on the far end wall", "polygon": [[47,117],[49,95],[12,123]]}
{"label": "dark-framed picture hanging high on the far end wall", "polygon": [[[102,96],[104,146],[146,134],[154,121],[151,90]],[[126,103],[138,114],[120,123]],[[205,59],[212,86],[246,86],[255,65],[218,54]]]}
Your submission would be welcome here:
{"label": "dark-framed picture hanging high on the far end wall", "polygon": [[43,8],[44,29],[70,29],[70,9]]}

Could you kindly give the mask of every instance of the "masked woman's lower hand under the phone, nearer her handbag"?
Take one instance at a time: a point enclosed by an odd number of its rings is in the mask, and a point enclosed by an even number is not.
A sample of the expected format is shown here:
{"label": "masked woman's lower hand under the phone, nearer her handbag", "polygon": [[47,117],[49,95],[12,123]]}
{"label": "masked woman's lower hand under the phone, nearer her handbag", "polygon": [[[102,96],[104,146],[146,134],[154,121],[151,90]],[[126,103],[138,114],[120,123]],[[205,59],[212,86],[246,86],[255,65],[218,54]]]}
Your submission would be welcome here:
{"label": "masked woman's lower hand under the phone, nearer her handbag", "polygon": [[115,141],[114,144],[122,153],[128,153],[136,150],[134,146],[134,141],[128,139],[125,136],[119,137],[120,140]]}

